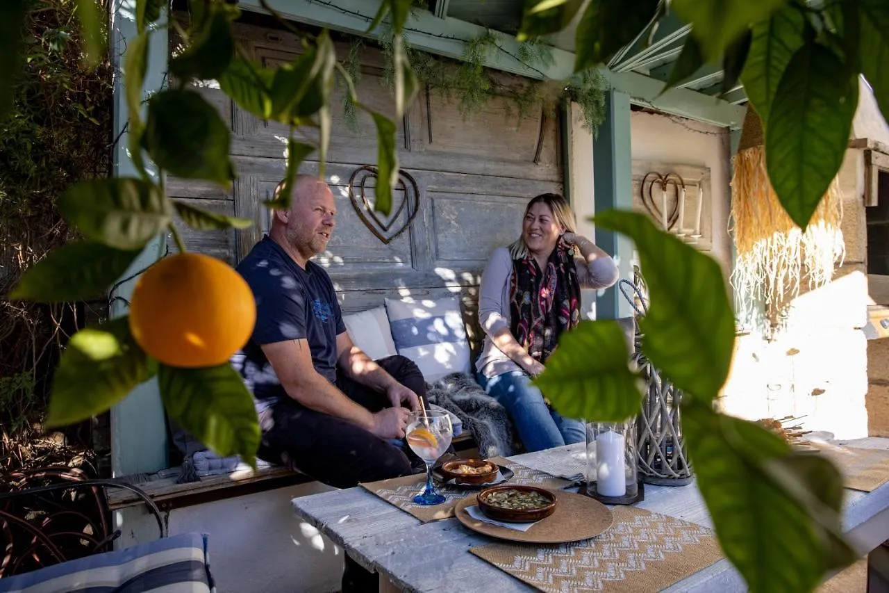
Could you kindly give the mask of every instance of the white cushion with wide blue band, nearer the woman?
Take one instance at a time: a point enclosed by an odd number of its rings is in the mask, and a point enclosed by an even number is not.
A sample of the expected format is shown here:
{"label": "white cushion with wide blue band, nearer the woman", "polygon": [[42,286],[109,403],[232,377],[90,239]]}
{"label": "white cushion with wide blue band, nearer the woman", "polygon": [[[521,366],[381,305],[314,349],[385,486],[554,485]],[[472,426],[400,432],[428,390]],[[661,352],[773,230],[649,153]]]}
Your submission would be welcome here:
{"label": "white cushion with wide blue band, nearer the woman", "polygon": [[386,299],[392,339],[398,353],[414,361],[428,382],[453,372],[469,372],[469,342],[460,300]]}

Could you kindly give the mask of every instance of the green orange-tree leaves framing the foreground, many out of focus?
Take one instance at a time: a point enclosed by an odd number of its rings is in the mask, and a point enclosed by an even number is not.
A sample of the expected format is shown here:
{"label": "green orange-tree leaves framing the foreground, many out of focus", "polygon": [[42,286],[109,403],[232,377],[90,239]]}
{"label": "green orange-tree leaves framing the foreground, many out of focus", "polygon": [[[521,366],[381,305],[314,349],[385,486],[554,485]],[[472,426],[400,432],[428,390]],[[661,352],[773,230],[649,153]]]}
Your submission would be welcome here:
{"label": "green orange-tree leaves framing the foreground, many out of focus", "polygon": [[[94,12],[81,7],[84,31],[92,40],[97,30]],[[528,42],[564,28],[580,11],[575,0],[526,0],[519,37]],[[12,4],[11,4],[12,5]],[[502,86],[483,68],[486,58],[501,51],[497,37],[485,34],[469,40],[456,77],[423,54],[410,51],[404,27],[412,2],[385,0],[371,29],[390,31],[391,81],[396,121],[420,84],[445,89],[459,80],[461,105],[477,110]],[[158,0],[137,0],[137,38],[127,56],[126,96],[131,108],[134,162],[140,169],[144,147],[162,173],[204,179],[228,186],[236,171],[228,156],[228,127],[200,94],[182,88],[192,77],[218,80],[223,92],[260,118],[292,128],[288,143],[287,180],[311,150],[318,150],[323,170],[330,139],[330,101],[335,75],[348,89],[348,102],[370,112],[378,135],[376,207],[391,206],[398,161],[396,122],[370,110],[356,96],[347,69],[336,62],[326,31],[302,36],[304,52],[277,69],[264,68],[243,57],[233,45],[230,23],[237,9],[223,2],[194,3],[187,46],[173,61],[179,79],[173,88],[153,95],[148,117],[141,122],[141,77],[147,68],[148,23],[160,19]],[[19,63],[15,9],[10,16],[12,39],[0,45],[0,64]],[[881,109],[889,104],[885,60],[885,3],[879,0],[837,0],[825,6],[789,0],[673,0],[669,10],[693,25],[682,58],[669,85],[691,76],[704,63],[721,61],[724,90],[741,77],[750,97],[764,114],[767,164],[781,204],[801,226],[808,222],[842,161],[857,100],[857,77],[869,78]],[[594,68],[621,47],[640,39],[653,21],[666,15],[667,3],[644,0],[626,10],[617,0],[591,0],[576,34],[576,63],[585,110],[602,105]],[[653,26],[656,26],[656,22]],[[286,23],[284,23],[286,26]],[[653,27],[652,27],[653,28]],[[95,46],[84,46],[95,56]],[[456,84],[456,83],[454,83]],[[669,85],[667,87],[669,87]],[[520,104],[555,97],[542,87],[514,90]],[[453,86],[452,86],[453,88]],[[0,87],[0,102],[4,88]],[[85,108],[84,108],[85,110]],[[521,113],[521,110],[520,110]],[[595,118],[589,118],[589,120]],[[589,123],[589,122],[588,122]],[[318,130],[316,145],[293,140],[295,130]],[[193,207],[173,204],[164,187],[144,179],[77,186],[61,209],[88,241],[54,251],[22,278],[17,296],[42,301],[83,298],[105,288],[132,262],[135,248],[152,232],[172,232],[172,211],[197,229],[228,228],[241,222]],[[284,186],[289,187],[285,180]],[[95,196],[88,196],[92,187]],[[79,188],[79,189],[78,189]],[[284,207],[287,196],[276,207]],[[90,200],[93,200],[92,202]],[[642,215],[605,212],[602,227],[629,235],[636,243],[652,305],[640,321],[642,348],[689,397],[684,399],[687,445],[699,475],[719,540],[726,555],[755,590],[811,590],[825,570],[844,565],[853,556],[841,535],[838,511],[841,486],[835,467],[820,459],[801,459],[781,441],[757,426],[720,416],[710,404],[725,383],[733,353],[733,315],[718,264],[675,237],[658,231]],[[181,243],[180,243],[181,248]],[[50,279],[57,282],[52,285]],[[92,371],[97,399],[78,407],[71,394],[57,391],[54,410],[60,418],[82,418],[111,405],[132,382],[147,377],[152,362],[136,352],[118,325],[87,330],[74,341],[70,360],[61,368],[72,383],[84,370]],[[594,366],[589,352],[597,349]],[[78,358],[79,357],[79,358]],[[627,350],[616,326],[584,324],[565,336],[563,344],[537,379],[564,410],[590,419],[624,418],[638,409],[638,386],[627,367]],[[70,367],[71,375],[65,373]],[[123,371],[117,375],[118,371]],[[259,426],[244,384],[228,365],[183,370],[161,366],[158,379],[164,406],[172,418],[220,454],[238,453],[252,460],[259,443]],[[92,385],[92,384],[91,384]],[[209,410],[209,411],[208,411]],[[597,418],[598,416],[598,418]]]}

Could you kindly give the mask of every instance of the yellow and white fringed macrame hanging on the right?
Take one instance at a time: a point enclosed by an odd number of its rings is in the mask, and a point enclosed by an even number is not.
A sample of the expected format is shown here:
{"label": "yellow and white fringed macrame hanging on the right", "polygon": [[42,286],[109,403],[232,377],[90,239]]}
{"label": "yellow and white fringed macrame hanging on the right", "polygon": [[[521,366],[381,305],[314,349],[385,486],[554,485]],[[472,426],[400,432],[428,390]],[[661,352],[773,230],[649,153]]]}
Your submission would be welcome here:
{"label": "yellow and white fringed macrame hanging on the right", "polygon": [[842,265],[843,204],[835,178],[805,232],[800,229],[781,207],[769,182],[761,129],[756,113],[748,108],[741,146],[733,158],[729,232],[737,256],[731,282],[741,301],[741,318],[755,324],[757,303],[765,303],[774,329],[804,280],[809,289],[819,288]]}

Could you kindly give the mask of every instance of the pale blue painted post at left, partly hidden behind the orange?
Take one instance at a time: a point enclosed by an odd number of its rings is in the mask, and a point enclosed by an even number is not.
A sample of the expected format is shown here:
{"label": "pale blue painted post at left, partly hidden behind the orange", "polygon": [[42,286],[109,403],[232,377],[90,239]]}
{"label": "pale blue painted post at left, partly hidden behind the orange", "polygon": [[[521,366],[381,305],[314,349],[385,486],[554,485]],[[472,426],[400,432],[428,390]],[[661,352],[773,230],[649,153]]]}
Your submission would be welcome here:
{"label": "pale blue painted post at left, partly hidden behind the orange", "polygon": [[[124,79],[124,53],[137,37],[135,0],[114,0],[111,13],[111,56],[115,61],[114,131],[119,139],[114,149],[114,175],[138,175],[130,159],[128,134],[124,131],[129,118]],[[167,69],[166,28],[157,28],[148,48],[148,75],[145,77],[145,96],[156,93],[164,85]],[[150,169],[149,169],[150,170]],[[153,173],[153,175],[156,175]],[[163,253],[165,238],[151,241],[141,255],[124,272],[122,280],[155,262]],[[111,317],[125,315],[135,279],[117,286],[111,293]],[[152,379],[138,386],[123,402],[111,409],[111,471],[114,475],[155,472],[167,467],[166,427],[164,406],[161,404],[157,381]]]}

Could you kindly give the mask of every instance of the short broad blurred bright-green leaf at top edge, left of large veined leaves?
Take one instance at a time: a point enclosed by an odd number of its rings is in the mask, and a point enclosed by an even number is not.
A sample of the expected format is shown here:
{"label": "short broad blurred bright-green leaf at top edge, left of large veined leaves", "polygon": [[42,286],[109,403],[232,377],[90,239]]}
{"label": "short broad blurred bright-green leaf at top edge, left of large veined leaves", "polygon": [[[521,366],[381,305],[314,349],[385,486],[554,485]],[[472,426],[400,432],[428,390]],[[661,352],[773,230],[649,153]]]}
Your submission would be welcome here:
{"label": "short broad blurred bright-green leaf at top edge, left of large veined leaves", "polygon": [[704,58],[716,60],[744,29],[768,19],[787,0],[673,0],[671,10],[691,23]]}

